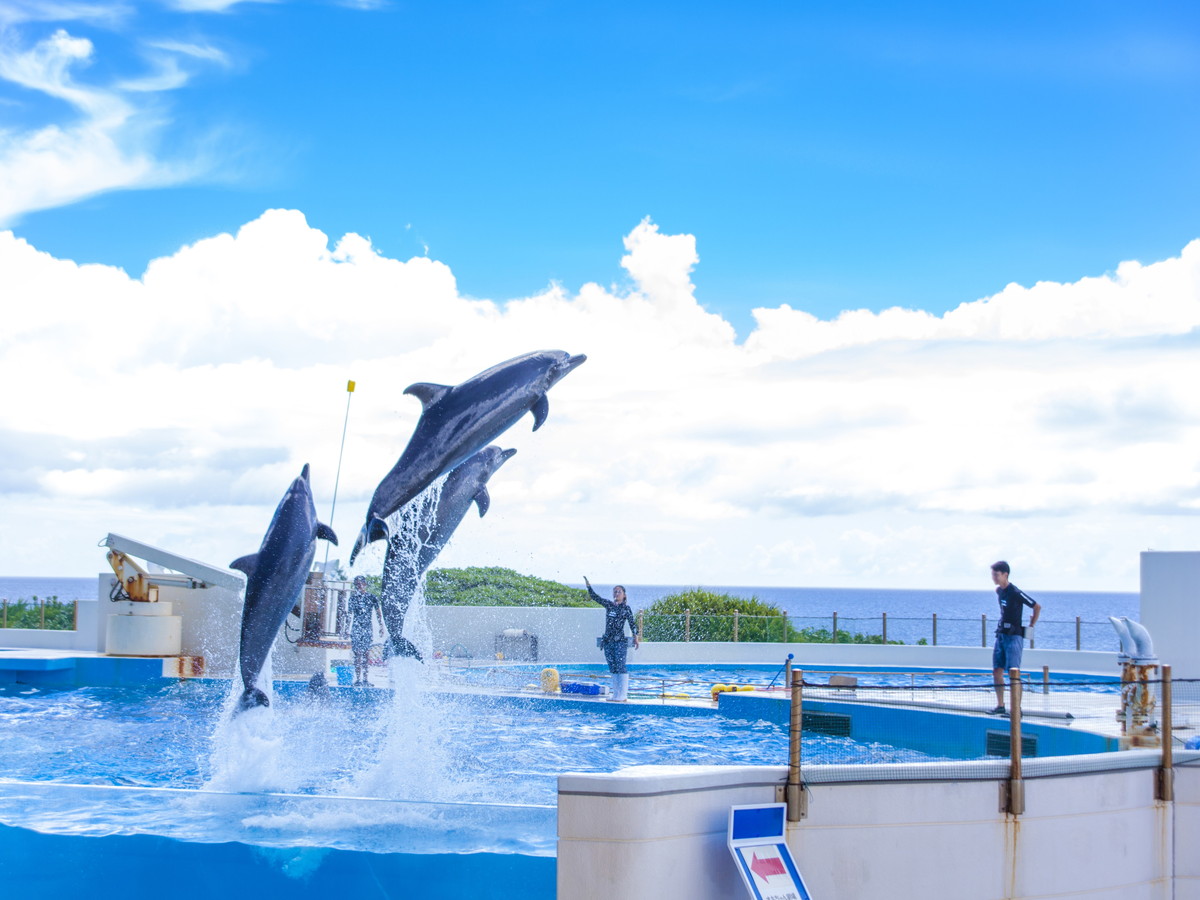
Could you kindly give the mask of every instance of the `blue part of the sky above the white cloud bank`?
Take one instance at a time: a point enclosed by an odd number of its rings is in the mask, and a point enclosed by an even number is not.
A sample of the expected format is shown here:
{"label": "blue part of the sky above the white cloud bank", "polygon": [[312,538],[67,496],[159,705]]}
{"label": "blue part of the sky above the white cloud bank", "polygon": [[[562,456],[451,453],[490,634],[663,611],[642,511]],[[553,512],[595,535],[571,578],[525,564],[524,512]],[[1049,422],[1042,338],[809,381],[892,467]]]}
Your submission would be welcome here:
{"label": "blue part of the sky above the white cloud bank", "polygon": [[[619,281],[650,216],[697,235],[697,298],[744,336],[757,306],[937,313],[1200,229],[1188,4],[208,5],[8,5],[7,53],[92,43],[80,84],[179,73],[121,91],[158,178],[17,210],[18,235],[136,276],[299,209],[504,300]],[[73,113],[0,82],[8,133]]]}

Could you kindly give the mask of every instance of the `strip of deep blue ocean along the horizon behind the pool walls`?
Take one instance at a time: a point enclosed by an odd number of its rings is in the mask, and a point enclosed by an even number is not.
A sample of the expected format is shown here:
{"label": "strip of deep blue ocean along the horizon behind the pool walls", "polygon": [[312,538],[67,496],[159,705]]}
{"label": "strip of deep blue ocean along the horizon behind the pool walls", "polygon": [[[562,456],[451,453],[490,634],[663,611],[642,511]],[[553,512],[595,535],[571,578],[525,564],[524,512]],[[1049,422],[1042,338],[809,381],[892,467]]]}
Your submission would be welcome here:
{"label": "strip of deep blue ocean along the horizon behind the pool walls", "polygon": [[[577,587],[582,587],[577,586]],[[634,611],[644,610],[660,596],[695,586],[626,584]],[[794,628],[838,630],[880,635],[883,613],[888,617],[888,640],[905,643],[991,646],[997,619],[995,590],[984,584],[978,590],[920,590],[892,588],[756,588],[704,586],[708,590],[757,598],[787,612]],[[96,599],[97,580],[0,577],[0,599],[59,600]],[[598,584],[607,595],[611,586]],[[1025,588],[1042,604],[1042,620],[1034,646],[1054,649],[1116,650],[1118,642],[1109,616],[1139,616],[1139,595],[1120,592],[1036,590]],[[934,634],[934,614],[937,634]],[[986,616],[986,624],[982,617]],[[1079,618],[1076,628],[1076,617]]]}

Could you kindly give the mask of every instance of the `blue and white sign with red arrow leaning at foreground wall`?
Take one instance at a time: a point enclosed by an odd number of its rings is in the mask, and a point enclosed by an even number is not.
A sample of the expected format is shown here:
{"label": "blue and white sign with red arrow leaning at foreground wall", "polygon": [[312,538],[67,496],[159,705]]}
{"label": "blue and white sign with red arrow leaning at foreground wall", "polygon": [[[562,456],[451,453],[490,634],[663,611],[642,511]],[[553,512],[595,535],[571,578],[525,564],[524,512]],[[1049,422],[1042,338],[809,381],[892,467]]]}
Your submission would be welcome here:
{"label": "blue and white sign with red arrow leaning at foreground wall", "polygon": [[754,900],[812,900],[787,848],[787,804],[730,808],[730,853]]}

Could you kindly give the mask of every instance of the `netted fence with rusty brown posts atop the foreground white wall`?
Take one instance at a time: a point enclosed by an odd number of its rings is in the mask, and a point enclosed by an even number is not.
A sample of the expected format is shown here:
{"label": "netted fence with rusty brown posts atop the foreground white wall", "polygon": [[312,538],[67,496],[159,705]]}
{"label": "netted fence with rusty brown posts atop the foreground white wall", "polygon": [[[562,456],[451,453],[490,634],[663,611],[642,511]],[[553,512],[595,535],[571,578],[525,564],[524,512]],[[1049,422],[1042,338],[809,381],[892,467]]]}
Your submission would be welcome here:
{"label": "netted fence with rusty brown posts atop the foreground white wall", "polygon": [[[1170,666],[1156,677],[1051,682],[1016,670],[1000,689],[968,677],[961,680],[904,685],[856,684],[847,676],[793,671],[790,690],[788,784],[803,785],[804,766],[860,763],[848,738],[887,732],[888,743],[910,748],[913,758],[857,770],[854,780],[904,780],[930,772],[954,780],[1007,781],[1006,809],[1024,811],[1024,760],[1040,758],[1037,776],[1118,769],[1128,755],[1117,750],[1157,751],[1156,797],[1174,799],[1178,764],[1200,764],[1200,679],[1175,679]],[[856,707],[863,707],[862,712]],[[1002,707],[1002,708],[1001,708]],[[956,713],[956,715],[946,715]],[[846,756],[839,757],[839,742]],[[977,761],[992,760],[995,766]],[[964,766],[964,761],[972,764]],[[790,815],[805,815],[803,794],[788,791]],[[794,809],[793,809],[794,806]]]}

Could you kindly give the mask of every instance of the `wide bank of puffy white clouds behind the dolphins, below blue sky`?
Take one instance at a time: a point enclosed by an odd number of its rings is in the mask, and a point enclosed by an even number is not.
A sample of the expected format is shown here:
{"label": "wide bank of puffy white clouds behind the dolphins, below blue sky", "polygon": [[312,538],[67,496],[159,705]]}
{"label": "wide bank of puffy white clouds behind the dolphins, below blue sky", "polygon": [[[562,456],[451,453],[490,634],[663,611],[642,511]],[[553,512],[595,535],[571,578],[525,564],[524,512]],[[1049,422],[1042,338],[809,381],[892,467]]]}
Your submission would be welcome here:
{"label": "wide bank of puffy white clouds behind the dolphins, below blue sky", "polygon": [[42,572],[88,571],[107,530],[241,556],[305,462],[329,509],[353,378],[349,540],[420,412],[403,389],[536,348],[588,362],[544,428],[502,438],[520,454],[445,564],[958,587],[1006,556],[1048,587],[1116,589],[1139,550],[1200,538],[1200,242],[941,317],[758,310],[744,343],[696,301],[692,235],[647,220],[624,245],[629,289],[499,302],[289,210],[142,278],[0,233],[0,539]]}

